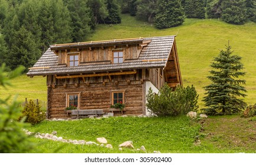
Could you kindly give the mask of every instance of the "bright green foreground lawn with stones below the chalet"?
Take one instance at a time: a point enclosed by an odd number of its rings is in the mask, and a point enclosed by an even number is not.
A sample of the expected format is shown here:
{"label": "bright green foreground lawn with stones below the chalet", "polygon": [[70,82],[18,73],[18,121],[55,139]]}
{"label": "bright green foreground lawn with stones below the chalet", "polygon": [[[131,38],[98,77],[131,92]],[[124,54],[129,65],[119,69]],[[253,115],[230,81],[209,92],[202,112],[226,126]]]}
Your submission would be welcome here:
{"label": "bright green foreground lawn with stones below the chalet", "polygon": [[[113,149],[61,143],[32,138],[39,144],[34,153],[255,153],[255,118],[239,116],[190,120],[180,117],[85,118],[78,121],[43,121],[28,130],[40,133],[57,131],[57,137],[96,141],[105,137]],[[131,140],[135,149],[119,150],[119,144]]]}

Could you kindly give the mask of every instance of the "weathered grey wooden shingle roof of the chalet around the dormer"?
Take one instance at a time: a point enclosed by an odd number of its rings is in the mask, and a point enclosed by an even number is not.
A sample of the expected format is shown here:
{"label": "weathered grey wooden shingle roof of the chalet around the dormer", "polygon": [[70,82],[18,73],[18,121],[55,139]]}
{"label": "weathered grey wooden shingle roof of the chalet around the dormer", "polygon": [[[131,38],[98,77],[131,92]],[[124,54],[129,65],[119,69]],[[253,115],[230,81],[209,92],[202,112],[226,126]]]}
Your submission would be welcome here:
{"label": "weathered grey wooden shingle roof of the chalet around the dormer", "polygon": [[[137,70],[142,68],[164,68],[173,47],[175,36],[151,37],[140,39],[118,39],[118,41],[102,42],[82,42],[79,44],[51,45],[41,58],[28,71],[28,76],[34,75],[54,75],[54,74],[80,74],[92,72],[106,72],[119,70]],[[93,62],[92,64],[67,67],[66,64],[58,64],[58,55],[54,54],[55,49],[84,48],[84,47],[107,47],[120,44],[136,44],[151,40],[147,46],[143,47],[137,59],[125,60],[119,64],[104,64]],[[164,59],[164,60],[163,60]]]}

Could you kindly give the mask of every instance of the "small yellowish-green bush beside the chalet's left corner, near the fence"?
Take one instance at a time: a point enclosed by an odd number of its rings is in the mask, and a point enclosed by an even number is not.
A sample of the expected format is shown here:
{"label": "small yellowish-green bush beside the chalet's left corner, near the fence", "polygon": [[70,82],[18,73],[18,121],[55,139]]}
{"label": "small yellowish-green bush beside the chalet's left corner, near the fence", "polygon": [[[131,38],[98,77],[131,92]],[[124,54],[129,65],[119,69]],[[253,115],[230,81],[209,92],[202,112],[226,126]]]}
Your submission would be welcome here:
{"label": "small yellowish-green bush beside the chalet's left corner, near the fence", "polygon": [[25,117],[27,123],[37,124],[46,119],[46,112],[41,110],[40,103],[35,104],[33,100],[30,100],[22,110],[22,117]]}

